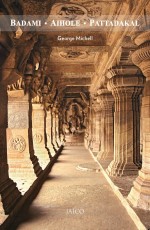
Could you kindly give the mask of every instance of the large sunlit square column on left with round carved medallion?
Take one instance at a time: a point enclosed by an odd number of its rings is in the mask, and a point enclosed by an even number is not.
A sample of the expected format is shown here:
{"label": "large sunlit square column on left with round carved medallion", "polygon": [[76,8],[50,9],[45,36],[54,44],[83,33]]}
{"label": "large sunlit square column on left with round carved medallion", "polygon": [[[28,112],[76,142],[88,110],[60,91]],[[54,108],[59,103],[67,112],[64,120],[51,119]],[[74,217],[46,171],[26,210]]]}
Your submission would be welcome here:
{"label": "large sunlit square column on left with round carved medallion", "polygon": [[7,139],[10,177],[25,192],[36,180],[38,170],[31,161],[34,153],[29,139],[29,95],[24,95],[23,90],[8,91]]}

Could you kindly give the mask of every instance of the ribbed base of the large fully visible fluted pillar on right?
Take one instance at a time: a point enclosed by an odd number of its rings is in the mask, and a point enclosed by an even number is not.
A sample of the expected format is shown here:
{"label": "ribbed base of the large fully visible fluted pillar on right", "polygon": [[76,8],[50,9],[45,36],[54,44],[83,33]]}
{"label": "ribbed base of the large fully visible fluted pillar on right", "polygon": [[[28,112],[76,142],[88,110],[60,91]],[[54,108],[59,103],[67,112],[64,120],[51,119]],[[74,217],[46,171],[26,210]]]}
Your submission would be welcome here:
{"label": "ribbed base of the large fully visible fluted pillar on right", "polygon": [[134,163],[118,163],[114,160],[109,164],[106,172],[110,176],[129,176],[129,175],[137,175],[138,167]]}

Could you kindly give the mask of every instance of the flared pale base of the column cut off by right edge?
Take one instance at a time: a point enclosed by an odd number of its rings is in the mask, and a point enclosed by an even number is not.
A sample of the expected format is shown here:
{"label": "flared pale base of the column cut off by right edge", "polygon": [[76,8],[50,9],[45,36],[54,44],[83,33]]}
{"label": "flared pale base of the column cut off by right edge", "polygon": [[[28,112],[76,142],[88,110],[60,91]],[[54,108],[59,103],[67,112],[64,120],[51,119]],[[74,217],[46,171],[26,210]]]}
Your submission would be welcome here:
{"label": "flared pale base of the column cut off by right edge", "polygon": [[134,207],[150,211],[150,174],[139,171],[127,200]]}

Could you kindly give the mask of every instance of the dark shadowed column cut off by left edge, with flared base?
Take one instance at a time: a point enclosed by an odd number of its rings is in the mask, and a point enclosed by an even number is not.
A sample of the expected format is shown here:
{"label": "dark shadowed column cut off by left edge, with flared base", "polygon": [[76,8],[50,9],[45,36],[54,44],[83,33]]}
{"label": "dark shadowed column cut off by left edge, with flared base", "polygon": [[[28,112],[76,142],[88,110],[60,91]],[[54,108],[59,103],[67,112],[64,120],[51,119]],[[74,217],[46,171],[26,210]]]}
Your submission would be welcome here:
{"label": "dark shadowed column cut off by left edge, with flared base", "polygon": [[7,163],[7,106],[8,97],[7,89],[4,85],[0,85],[0,223],[2,223],[19,199],[21,193],[9,178]]}

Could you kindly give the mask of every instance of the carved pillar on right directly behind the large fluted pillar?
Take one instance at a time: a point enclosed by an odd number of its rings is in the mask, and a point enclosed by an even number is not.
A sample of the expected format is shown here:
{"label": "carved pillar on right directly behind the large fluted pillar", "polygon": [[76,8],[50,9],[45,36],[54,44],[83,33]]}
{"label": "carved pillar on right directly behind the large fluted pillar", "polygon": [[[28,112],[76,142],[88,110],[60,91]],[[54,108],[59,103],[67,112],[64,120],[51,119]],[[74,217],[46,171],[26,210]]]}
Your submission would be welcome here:
{"label": "carved pillar on right directly behind the large fluted pillar", "polygon": [[114,98],[107,89],[98,90],[99,107],[101,108],[101,150],[98,160],[113,160],[113,104]]}

